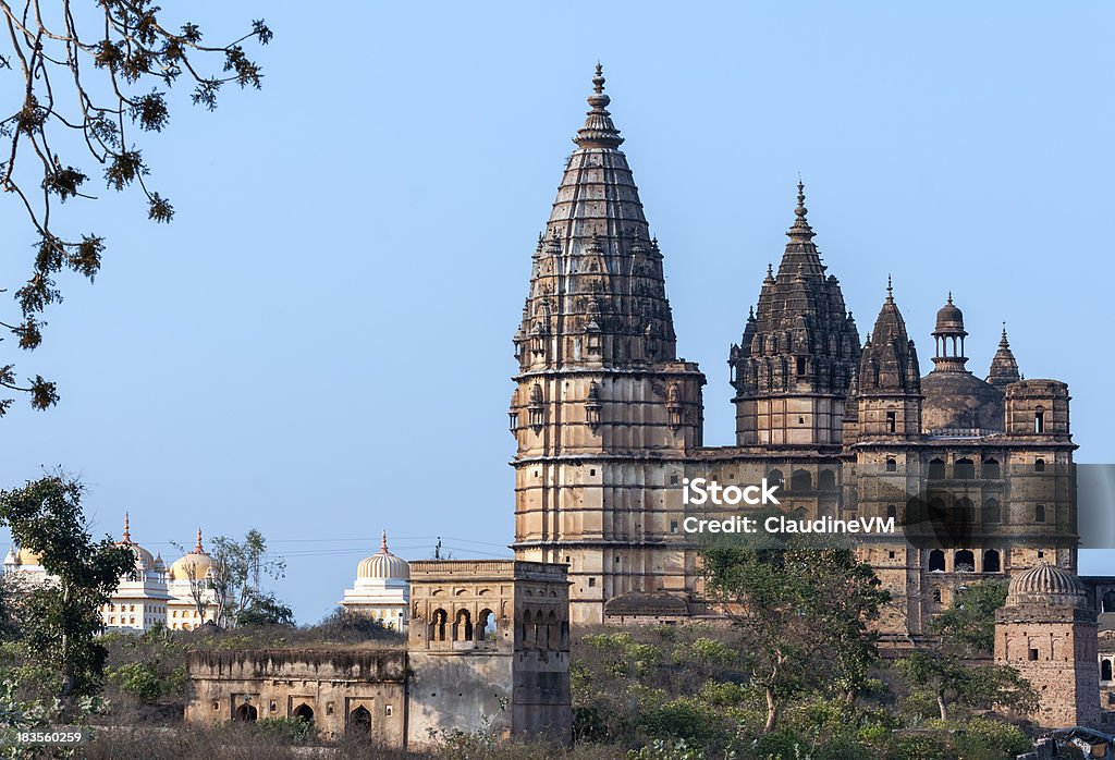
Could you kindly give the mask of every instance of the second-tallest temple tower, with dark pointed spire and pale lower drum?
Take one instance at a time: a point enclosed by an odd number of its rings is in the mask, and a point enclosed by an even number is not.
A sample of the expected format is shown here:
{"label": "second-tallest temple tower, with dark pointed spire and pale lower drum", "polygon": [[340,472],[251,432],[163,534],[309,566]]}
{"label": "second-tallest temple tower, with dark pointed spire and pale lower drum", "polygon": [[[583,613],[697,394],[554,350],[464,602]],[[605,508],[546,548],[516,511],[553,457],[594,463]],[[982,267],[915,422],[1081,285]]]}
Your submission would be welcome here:
{"label": "second-tallest temple tower, with dark pointed spire and pale lower drum", "polygon": [[733,345],[738,446],[836,446],[860,363],[860,333],[835,275],[825,274],[797,184],[796,218],[778,273],[767,267],[758,310]]}

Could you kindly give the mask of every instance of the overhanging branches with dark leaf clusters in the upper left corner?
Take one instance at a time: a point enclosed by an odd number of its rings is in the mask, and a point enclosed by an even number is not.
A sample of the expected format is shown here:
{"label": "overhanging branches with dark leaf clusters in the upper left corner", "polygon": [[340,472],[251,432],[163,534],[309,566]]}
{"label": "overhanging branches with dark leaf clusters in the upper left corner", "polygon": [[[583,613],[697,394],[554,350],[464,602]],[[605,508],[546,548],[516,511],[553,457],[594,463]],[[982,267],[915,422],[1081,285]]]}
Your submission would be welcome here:
{"label": "overhanging branches with dark leaf clusters in the upper left corner", "polygon": [[[25,350],[40,344],[42,315],[61,300],[57,274],[68,270],[91,281],[100,269],[105,238],[59,232],[57,225],[56,204],[95,198],[83,164],[99,165],[110,191],[137,185],[148,218],[169,222],[174,208],[148,187],[149,168],[134,131],[167,126],[167,96],[180,79],[193,85],[193,103],[209,110],[216,108],[227,82],[259,88],[263,75],[243,42],[254,38],[266,45],[272,37],[263,21],[253,21],[239,39],[210,46],[197,25],[174,29],[166,23],[166,13],[152,0],[87,4],[0,0],[0,23],[7,27],[0,69],[21,75],[19,99],[8,116],[0,113],[0,188],[19,199],[35,235],[30,276],[14,294],[20,320],[0,322],[0,328]],[[209,70],[214,58],[220,74]],[[54,382],[36,376],[21,384],[13,364],[0,367],[0,387],[29,393],[37,409],[58,402]],[[0,415],[11,403],[0,399]]]}

